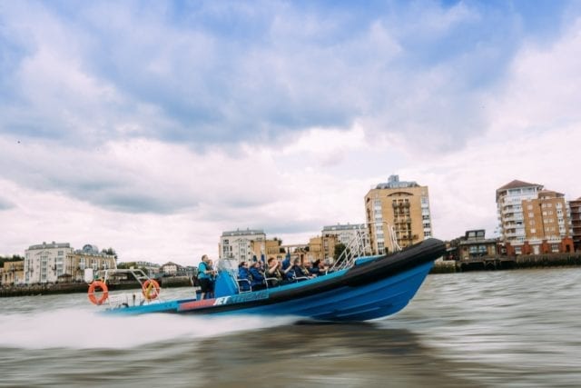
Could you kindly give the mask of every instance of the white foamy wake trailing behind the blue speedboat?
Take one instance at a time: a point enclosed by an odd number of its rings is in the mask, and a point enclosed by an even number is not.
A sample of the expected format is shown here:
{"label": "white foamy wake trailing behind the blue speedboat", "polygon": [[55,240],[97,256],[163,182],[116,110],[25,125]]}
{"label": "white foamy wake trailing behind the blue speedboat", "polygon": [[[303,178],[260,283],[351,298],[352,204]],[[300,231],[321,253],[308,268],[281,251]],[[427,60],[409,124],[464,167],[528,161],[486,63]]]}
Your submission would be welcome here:
{"label": "white foamy wake trailing behind the blue speedboat", "polygon": [[295,323],[296,317],[108,316],[94,310],[60,309],[0,315],[0,348],[130,349]]}

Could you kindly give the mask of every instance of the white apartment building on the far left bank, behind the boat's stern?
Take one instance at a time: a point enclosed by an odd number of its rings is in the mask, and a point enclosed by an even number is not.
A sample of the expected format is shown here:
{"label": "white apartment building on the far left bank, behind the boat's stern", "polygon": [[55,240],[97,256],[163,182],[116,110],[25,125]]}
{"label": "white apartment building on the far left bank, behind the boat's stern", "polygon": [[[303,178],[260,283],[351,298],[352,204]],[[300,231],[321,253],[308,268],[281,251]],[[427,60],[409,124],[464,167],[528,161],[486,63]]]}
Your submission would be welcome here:
{"label": "white apartment building on the far left bank, behind the boat's stern", "polygon": [[31,245],[25,250],[25,283],[54,283],[65,274],[67,254],[73,248],[68,243]]}

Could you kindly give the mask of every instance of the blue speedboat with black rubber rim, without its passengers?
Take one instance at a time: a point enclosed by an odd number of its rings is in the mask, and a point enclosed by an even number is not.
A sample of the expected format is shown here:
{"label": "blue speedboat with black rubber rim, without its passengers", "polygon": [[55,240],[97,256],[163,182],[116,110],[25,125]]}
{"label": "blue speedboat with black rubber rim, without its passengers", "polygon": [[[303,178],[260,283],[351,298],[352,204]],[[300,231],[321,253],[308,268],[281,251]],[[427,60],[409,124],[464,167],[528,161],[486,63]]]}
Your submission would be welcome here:
{"label": "blue speedboat with black rubber rim, without its passengers", "polygon": [[[367,321],[397,313],[418,291],[445,245],[428,239],[395,254],[359,257],[348,268],[298,283],[241,293],[221,271],[217,297],[163,302],[157,284],[143,287],[146,303],[118,303],[107,313],[294,315],[321,321]],[[147,290],[147,291],[146,291]],[[230,290],[225,292],[224,290]]]}

